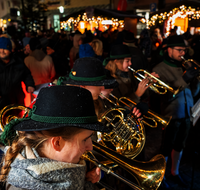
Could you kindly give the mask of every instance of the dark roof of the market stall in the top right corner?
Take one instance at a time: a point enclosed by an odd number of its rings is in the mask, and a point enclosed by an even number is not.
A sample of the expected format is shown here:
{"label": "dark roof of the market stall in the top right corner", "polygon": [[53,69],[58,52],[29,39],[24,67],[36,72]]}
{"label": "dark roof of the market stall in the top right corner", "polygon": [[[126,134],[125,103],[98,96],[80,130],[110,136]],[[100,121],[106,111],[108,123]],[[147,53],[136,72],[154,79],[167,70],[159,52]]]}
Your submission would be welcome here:
{"label": "dark roof of the market stall in the top right corner", "polygon": [[156,14],[163,13],[163,12],[169,12],[172,9],[174,9],[175,7],[180,7],[182,5],[185,5],[187,7],[190,6],[192,8],[196,8],[196,9],[200,8],[200,2],[197,2],[197,1],[180,1],[180,2],[177,2],[177,3],[173,3],[173,4],[169,5],[168,7],[161,9],[159,11],[152,12],[150,14],[150,17],[153,16],[153,15],[156,15]]}

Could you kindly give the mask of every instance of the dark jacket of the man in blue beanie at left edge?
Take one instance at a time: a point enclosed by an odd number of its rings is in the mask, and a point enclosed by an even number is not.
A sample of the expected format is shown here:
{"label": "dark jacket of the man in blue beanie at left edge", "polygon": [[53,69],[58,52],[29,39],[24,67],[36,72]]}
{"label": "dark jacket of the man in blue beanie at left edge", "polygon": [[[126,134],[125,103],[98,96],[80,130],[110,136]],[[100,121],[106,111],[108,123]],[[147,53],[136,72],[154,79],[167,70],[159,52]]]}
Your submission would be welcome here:
{"label": "dark jacket of the man in blue beanie at left edge", "polygon": [[34,80],[29,69],[20,57],[11,55],[10,62],[5,64],[0,60],[0,108],[12,104],[22,103],[24,93],[21,81],[26,85],[34,87]]}

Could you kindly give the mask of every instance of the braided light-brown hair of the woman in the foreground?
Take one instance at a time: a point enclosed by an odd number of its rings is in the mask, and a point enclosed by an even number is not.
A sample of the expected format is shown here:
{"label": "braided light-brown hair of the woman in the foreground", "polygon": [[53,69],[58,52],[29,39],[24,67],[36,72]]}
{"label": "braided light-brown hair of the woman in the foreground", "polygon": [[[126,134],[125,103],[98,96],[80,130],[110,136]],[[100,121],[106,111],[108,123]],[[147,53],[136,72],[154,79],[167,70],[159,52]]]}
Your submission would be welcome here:
{"label": "braided light-brown hair of the woman in the foreground", "polygon": [[3,166],[1,168],[0,181],[6,181],[10,171],[10,165],[17,155],[26,147],[37,149],[38,153],[42,152],[44,142],[56,136],[61,136],[64,140],[71,139],[74,135],[80,133],[84,129],[77,127],[61,127],[46,131],[20,131],[19,136],[13,141],[3,158]]}

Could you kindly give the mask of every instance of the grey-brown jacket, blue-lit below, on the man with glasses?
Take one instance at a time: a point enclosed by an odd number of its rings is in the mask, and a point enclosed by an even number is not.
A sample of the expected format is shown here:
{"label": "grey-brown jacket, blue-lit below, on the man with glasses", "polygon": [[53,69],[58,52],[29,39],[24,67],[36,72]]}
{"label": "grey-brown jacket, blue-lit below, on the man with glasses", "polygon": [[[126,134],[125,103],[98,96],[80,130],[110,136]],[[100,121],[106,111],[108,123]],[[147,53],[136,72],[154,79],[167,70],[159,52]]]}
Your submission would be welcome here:
{"label": "grey-brown jacket, blue-lit below, on the man with glasses", "polygon": [[[160,76],[160,80],[181,91],[175,96],[163,96],[161,110],[165,116],[172,116],[173,119],[181,119],[190,116],[190,109],[193,107],[193,96],[199,92],[199,83],[188,85],[182,78],[183,69],[165,60],[153,68],[153,71]],[[169,93],[170,94],[170,93]]]}

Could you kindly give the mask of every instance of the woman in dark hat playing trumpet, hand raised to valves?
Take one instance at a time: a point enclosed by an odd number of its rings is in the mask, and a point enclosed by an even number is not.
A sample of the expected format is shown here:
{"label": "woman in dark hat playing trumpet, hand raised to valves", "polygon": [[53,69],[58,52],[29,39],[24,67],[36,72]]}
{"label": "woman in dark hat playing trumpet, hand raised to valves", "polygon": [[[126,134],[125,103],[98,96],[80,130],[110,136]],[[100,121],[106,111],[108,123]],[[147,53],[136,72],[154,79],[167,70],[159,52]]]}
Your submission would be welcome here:
{"label": "woman in dark hat playing trumpet, hand raised to valves", "polygon": [[[149,79],[143,79],[138,83],[134,78],[132,71],[128,68],[132,66],[131,53],[128,46],[113,46],[110,57],[104,60],[103,65],[119,83],[119,86],[112,93],[118,98],[125,96],[139,103],[141,96],[149,87]],[[155,73],[152,74],[157,76]]]}

